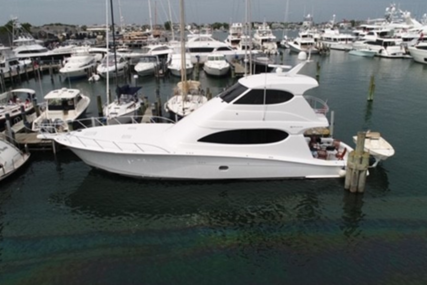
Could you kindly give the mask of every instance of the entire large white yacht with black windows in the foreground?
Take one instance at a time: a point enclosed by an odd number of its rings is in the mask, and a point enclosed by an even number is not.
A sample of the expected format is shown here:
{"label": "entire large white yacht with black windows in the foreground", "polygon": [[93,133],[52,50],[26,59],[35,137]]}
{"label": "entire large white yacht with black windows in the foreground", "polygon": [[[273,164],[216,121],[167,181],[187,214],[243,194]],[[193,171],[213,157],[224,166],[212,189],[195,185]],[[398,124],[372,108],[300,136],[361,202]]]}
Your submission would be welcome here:
{"label": "entire large white yacht with black windows in the foreground", "polygon": [[321,138],[325,148],[313,155],[305,136],[329,123],[326,103],[303,95],[318,86],[298,74],[303,66],[241,78],[175,124],[103,126],[51,137],[92,167],[140,178],[342,177],[352,148]]}

